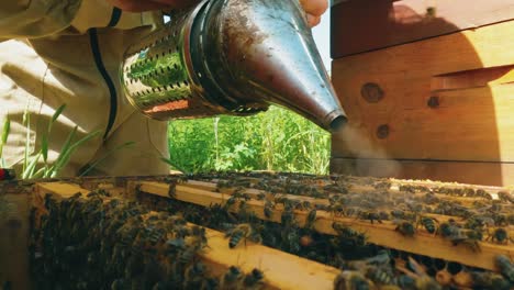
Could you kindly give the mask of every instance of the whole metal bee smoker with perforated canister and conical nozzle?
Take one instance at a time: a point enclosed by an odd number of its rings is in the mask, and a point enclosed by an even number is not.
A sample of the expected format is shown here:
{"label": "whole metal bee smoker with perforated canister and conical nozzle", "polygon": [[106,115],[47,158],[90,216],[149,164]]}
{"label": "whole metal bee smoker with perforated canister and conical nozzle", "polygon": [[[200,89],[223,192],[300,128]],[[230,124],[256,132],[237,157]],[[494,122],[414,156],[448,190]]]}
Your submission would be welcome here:
{"label": "whole metal bee smoker with perforated canister and conical nozzle", "polygon": [[298,0],[205,0],[132,45],[130,102],[158,119],[250,115],[270,103],[321,127],[346,122]]}

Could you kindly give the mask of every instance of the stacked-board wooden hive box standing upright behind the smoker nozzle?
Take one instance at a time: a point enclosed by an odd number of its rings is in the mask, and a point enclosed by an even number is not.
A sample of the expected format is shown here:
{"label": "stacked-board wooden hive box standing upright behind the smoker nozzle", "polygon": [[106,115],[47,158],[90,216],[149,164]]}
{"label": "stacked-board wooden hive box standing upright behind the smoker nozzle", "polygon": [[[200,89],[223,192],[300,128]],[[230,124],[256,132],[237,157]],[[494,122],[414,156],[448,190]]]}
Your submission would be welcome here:
{"label": "stacked-board wooden hive box standing upright behind the smoker nozzle", "polygon": [[514,1],[332,8],[333,172],[514,183]]}

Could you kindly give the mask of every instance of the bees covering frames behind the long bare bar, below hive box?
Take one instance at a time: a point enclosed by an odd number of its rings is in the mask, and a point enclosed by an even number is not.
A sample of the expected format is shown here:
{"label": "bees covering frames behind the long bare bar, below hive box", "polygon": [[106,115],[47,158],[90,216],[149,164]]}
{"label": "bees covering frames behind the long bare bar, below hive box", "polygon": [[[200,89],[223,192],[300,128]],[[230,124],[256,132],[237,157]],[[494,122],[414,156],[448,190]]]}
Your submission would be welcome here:
{"label": "bees covering frames behind the long bare bar, below hive box", "polygon": [[[371,178],[334,177],[332,180],[301,175],[265,175],[255,177],[224,176],[220,187],[255,188],[273,194],[265,203],[265,212],[271,214],[276,204],[284,209],[323,210],[333,216],[355,217],[370,223],[392,222],[404,236],[413,236],[423,228],[439,235],[455,245],[463,245],[479,252],[479,242],[510,244],[514,225],[514,197],[510,192],[498,192],[498,199],[482,189],[427,188],[424,186],[400,186],[391,190],[391,182]],[[360,182],[359,183],[357,183]],[[365,193],[355,192],[353,187],[372,187]],[[281,193],[305,196],[327,201],[305,203],[287,200]],[[462,204],[459,198],[473,198],[471,204]],[[471,201],[469,201],[471,202]],[[289,203],[289,204],[288,204]]]}

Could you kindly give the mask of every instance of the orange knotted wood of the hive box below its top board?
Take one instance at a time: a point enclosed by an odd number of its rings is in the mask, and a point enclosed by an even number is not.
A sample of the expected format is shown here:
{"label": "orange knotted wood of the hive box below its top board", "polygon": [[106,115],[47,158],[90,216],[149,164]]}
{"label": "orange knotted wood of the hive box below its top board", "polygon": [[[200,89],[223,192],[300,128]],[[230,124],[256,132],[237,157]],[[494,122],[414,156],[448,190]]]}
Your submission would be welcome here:
{"label": "orange knotted wood of the hive box below its top board", "polygon": [[[356,159],[356,171],[370,174],[372,167],[362,168],[372,164],[368,159],[479,163],[438,177],[514,183],[514,175],[503,172],[514,163],[513,33],[514,21],[509,21],[334,60],[333,82],[349,123],[333,136],[333,169],[343,159]],[[383,92],[378,102],[361,94],[369,82]],[[382,176],[434,179],[429,168],[444,167],[404,165]]]}

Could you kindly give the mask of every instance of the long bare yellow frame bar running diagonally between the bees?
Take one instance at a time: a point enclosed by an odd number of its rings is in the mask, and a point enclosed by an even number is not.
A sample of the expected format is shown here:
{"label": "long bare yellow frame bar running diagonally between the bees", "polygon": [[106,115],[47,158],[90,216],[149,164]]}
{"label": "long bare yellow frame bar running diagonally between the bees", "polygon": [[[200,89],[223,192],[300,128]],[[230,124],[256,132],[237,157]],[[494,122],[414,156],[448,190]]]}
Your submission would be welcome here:
{"label": "long bare yellow frame bar running diagonally between the bees", "polygon": [[[167,183],[142,182],[139,190],[169,198],[169,185]],[[227,197],[222,193],[214,193],[178,185],[175,190],[175,199],[202,207],[210,207],[211,204],[224,204]],[[253,211],[257,217],[268,220],[264,215],[262,202],[250,200],[247,201],[247,204],[249,207],[248,210]],[[233,211],[236,211],[236,208],[237,207],[233,207]],[[279,223],[281,213],[281,209],[276,209],[271,221]],[[304,224],[308,212],[294,211],[294,213],[299,223]],[[514,247],[512,246],[480,243],[481,252],[473,253],[466,247],[452,246],[449,241],[434,237],[428,233],[420,232],[416,233],[414,237],[404,237],[394,230],[394,224],[388,221],[384,221],[383,224],[371,224],[355,219],[332,216],[329,213],[323,211],[317,212],[317,220],[314,223],[314,228],[320,233],[335,235],[336,232],[332,227],[333,222],[340,222],[354,230],[366,233],[370,243],[484,269],[494,269],[494,257],[499,254],[507,256],[514,255]]]}

